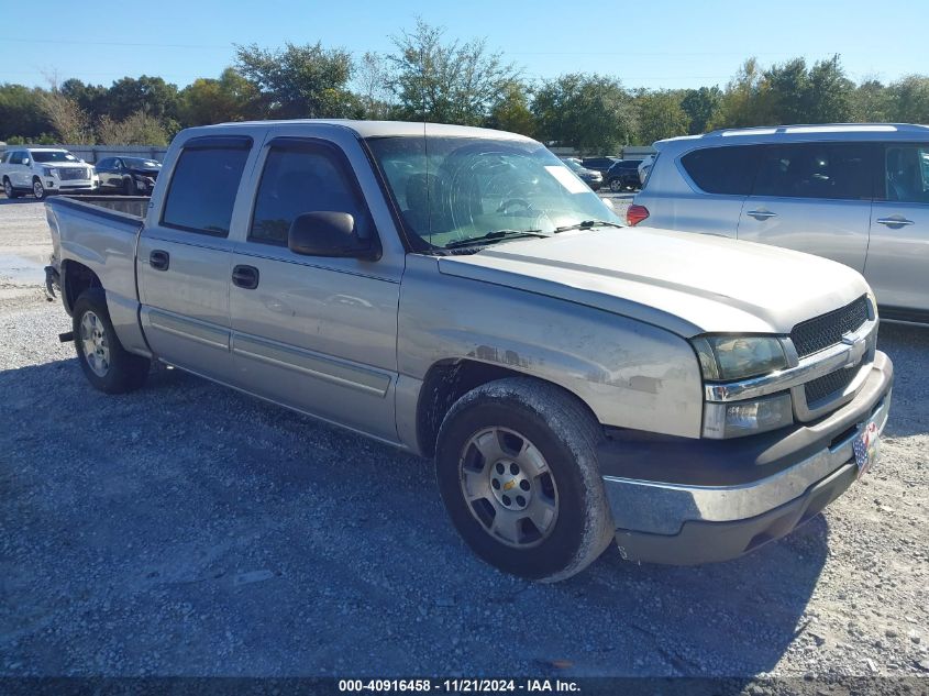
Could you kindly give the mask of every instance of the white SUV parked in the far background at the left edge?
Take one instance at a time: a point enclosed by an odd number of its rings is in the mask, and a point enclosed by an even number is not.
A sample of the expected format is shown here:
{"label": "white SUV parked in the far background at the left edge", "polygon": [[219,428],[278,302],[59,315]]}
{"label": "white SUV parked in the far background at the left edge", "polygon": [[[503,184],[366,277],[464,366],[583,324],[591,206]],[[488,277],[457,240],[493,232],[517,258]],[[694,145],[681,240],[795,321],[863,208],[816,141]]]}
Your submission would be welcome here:
{"label": "white SUV parked in the far background at the left edge", "polygon": [[0,183],[7,198],[32,194],[90,192],[97,188],[93,168],[59,147],[13,147],[0,158]]}

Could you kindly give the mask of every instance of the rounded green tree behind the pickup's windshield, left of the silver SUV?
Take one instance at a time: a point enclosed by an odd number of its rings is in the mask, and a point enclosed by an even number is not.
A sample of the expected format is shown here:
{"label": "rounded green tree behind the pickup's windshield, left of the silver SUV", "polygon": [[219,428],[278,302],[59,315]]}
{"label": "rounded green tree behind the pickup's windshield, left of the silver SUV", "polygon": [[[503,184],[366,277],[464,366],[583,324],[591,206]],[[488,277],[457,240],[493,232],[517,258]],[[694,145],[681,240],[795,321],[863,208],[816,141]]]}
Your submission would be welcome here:
{"label": "rounded green tree behind the pickup's windshield, left of the silver SUV", "polygon": [[545,142],[585,154],[617,152],[637,129],[631,97],[619,80],[602,75],[575,73],[544,82],[532,113]]}

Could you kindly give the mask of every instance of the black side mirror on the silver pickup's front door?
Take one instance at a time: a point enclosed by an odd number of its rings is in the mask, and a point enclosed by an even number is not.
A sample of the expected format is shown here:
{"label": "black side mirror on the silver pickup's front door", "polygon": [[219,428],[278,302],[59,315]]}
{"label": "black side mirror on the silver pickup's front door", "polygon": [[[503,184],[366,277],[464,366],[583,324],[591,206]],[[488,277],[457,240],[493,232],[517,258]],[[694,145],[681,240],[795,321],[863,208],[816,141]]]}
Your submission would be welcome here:
{"label": "black side mirror on the silver pickup's front door", "polygon": [[380,258],[380,248],[357,235],[352,216],[330,210],[298,216],[287,233],[287,247],[303,256]]}

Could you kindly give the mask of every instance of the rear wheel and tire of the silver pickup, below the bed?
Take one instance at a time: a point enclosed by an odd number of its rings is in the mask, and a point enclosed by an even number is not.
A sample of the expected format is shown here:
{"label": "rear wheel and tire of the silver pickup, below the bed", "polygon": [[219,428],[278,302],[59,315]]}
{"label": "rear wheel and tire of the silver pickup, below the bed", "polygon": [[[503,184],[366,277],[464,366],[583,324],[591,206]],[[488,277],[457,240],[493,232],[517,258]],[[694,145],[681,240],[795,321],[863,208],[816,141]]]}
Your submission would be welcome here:
{"label": "rear wheel and tire of the silver pickup, below the bed", "polygon": [[124,394],[145,384],[151,361],[122,346],[102,288],[85,290],[71,316],[77,360],[91,385],[106,394]]}

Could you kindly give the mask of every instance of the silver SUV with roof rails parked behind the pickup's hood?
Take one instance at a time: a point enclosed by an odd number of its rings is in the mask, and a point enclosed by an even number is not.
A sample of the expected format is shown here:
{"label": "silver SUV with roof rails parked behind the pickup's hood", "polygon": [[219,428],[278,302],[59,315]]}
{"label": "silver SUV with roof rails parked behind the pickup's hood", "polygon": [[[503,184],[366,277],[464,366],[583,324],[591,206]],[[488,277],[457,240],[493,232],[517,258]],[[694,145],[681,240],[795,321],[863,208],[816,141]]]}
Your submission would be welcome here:
{"label": "silver SUV with roof rails parked behind the pickup's hood", "polygon": [[826,256],[864,274],[884,319],[929,322],[929,126],[788,125],[655,146],[630,224]]}

